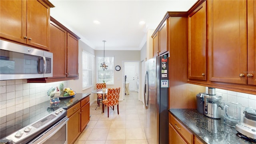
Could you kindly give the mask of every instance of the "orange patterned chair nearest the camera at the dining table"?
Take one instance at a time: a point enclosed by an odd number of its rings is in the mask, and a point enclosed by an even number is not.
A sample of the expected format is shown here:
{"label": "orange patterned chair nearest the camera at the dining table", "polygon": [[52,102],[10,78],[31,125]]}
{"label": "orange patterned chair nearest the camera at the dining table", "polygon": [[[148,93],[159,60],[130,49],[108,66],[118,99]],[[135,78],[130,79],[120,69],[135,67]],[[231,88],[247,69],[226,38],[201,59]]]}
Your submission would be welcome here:
{"label": "orange patterned chair nearest the camera at the dining table", "polygon": [[119,114],[119,94],[120,94],[120,87],[119,88],[108,88],[108,96],[107,99],[102,100],[103,104],[103,112],[104,112],[104,105],[108,106],[108,117],[109,117],[109,107],[117,105],[117,113]]}

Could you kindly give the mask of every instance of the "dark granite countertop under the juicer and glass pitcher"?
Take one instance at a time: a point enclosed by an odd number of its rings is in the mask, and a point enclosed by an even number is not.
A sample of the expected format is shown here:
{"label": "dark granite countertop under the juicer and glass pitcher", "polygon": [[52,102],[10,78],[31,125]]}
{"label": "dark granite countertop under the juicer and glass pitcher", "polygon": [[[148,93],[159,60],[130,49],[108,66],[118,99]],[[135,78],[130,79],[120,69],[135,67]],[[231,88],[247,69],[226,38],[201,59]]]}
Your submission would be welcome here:
{"label": "dark granite countertop under the juicer and glass pitcher", "polygon": [[170,109],[169,111],[205,144],[256,144],[238,137],[236,129],[224,124],[223,118],[208,118],[196,109]]}

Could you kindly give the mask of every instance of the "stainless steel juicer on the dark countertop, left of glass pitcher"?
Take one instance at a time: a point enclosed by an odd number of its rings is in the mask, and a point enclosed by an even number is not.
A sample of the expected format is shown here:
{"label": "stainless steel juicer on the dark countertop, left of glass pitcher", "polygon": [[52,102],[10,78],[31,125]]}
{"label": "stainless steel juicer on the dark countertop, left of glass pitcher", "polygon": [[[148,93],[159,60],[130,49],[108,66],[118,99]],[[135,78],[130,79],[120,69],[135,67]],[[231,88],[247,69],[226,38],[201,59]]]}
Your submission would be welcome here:
{"label": "stainless steel juicer on the dark countertop, left of glass pitcher", "polygon": [[215,88],[208,87],[208,94],[203,93],[204,96],[204,115],[210,118],[220,118],[218,107],[223,109],[222,96],[216,95]]}

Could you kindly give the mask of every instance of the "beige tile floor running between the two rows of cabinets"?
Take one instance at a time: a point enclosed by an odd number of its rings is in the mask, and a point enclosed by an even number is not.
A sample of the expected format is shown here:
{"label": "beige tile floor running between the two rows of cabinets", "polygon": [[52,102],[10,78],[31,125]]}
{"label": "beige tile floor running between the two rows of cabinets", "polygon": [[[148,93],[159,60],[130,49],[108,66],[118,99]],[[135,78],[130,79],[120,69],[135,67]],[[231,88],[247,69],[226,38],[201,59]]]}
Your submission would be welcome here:
{"label": "beige tile floor running between the two rows of cabinets", "polygon": [[114,111],[102,104],[96,110],[94,102],[90,106],[90,122],[80,134],[75,144],[146,144],[144,134],[144,108],[138,100],[138,92],[130,91]]}

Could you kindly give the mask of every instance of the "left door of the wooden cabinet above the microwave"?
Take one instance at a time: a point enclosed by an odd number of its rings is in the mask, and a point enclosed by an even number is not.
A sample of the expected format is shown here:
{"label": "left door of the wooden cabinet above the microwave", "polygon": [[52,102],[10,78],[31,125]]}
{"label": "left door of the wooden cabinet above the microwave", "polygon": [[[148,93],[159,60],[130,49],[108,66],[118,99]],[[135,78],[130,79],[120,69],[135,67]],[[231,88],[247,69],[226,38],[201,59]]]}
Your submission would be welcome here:
{"label": "left door of the wooden cabinet above the microwave", "polygon": [[26,4],[26,0],[1,0],[1,38],[26,44]]}

